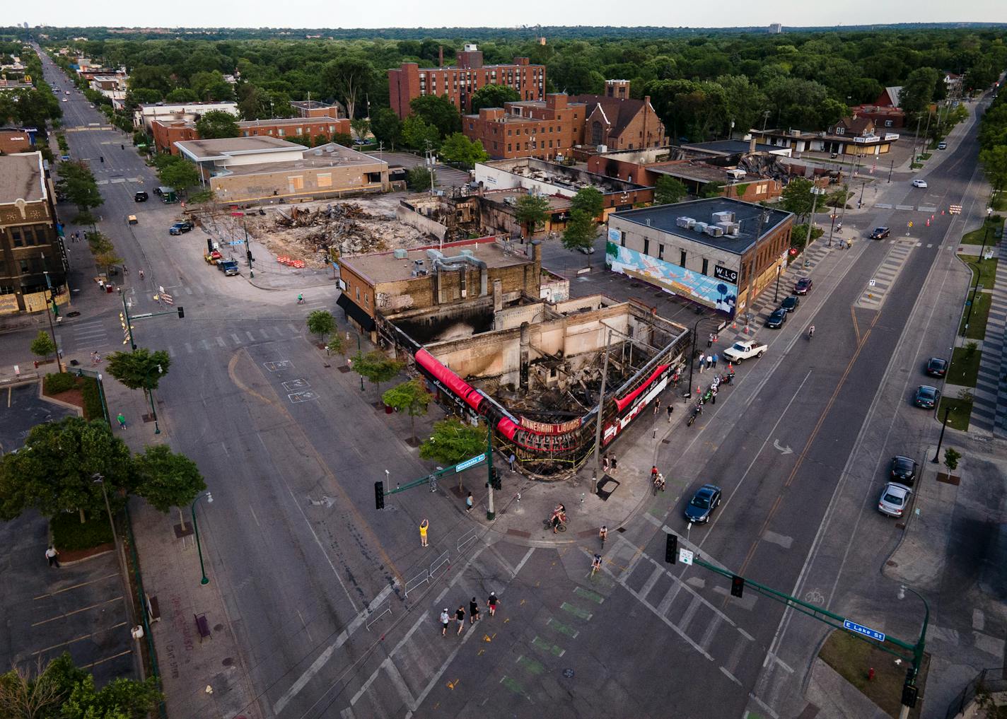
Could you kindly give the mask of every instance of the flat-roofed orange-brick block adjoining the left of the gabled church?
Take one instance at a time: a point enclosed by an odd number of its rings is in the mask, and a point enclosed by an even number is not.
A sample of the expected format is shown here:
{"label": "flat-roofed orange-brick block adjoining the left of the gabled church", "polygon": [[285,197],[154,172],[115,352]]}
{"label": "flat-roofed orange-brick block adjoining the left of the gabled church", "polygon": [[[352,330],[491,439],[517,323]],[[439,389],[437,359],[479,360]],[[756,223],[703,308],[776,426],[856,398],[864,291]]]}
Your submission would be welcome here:
{"label": "flat-roofed orange-brick block adjoining the left of the gabled church", "polygon": [[566,95],[555,94],[546,96],[545,102],[482,108],[478,115],[463,117],[461,124],[465,135],[481,142],[493,159],[552,160],[583,142],[585,111],[582,103],[570,103]]}

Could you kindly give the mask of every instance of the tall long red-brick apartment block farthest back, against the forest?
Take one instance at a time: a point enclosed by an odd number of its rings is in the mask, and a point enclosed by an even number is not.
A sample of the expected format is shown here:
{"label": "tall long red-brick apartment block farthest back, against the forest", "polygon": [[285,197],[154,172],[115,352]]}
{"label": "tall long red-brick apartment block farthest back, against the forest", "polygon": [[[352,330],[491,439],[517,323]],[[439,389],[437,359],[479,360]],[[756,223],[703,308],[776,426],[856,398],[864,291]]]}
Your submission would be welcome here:
{"label": "tall long red-brick apartment block farthest back, against the forest", "polygon": [[388,71],[388,94],[392,110],[400,118],[409,115],[409,103],[424,95],[446,95],[461,113],[472,107],[472,94],[487,85],[514,88],[522,100],[543,100],[546,92],[546,66],[531,64],[528,57],[515,57],[512,64],[482,64],[482,51],[466,44],[457,54],[457,64],[420,67],[403,62]]}

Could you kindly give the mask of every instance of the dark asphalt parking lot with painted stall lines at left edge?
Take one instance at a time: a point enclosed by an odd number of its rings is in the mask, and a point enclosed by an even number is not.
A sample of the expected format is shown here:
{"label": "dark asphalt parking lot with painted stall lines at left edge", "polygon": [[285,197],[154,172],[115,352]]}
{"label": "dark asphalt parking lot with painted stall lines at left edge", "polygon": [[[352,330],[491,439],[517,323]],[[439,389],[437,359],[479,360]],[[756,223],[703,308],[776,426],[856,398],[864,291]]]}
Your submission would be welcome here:
{"label": "dark asphalt parking lot with painted stall lines at left edge", "polygon": [[[0,446],[20,447],[35,424],[73,414],[38,398],[37,384],[5,389],[0,403]],[[115,554],[109,552],[59,569],[46,564],[48,521],[27,512],[0,523],[0,664],[32,670],[68,652],[98,686],[136,678],[129,597]],[[58,548],[57,548],[58,549]]]}

